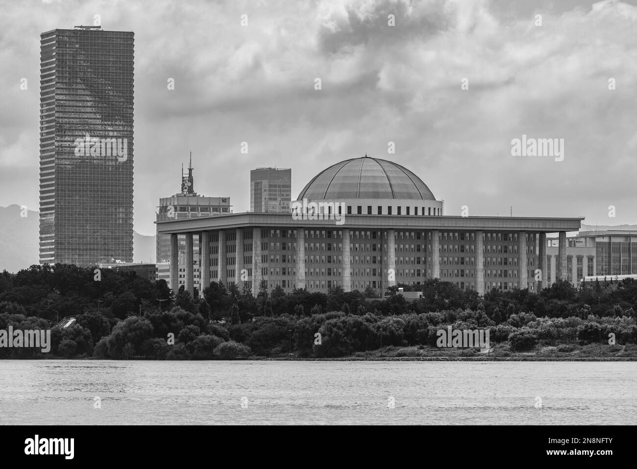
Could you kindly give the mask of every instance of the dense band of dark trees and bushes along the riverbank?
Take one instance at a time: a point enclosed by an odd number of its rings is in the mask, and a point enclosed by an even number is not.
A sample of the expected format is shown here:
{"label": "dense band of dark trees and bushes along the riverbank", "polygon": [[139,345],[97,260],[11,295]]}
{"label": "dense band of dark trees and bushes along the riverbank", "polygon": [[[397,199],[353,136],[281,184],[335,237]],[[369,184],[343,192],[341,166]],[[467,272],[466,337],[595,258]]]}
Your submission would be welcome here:
{"label": "dense band of dark trees and bushes along the riverbank", "polygon": [[[255,298],[213,282],[192,298],[183,287],[173,294],[163,280],[134,273],[104,269],[97,281],[90,268],[34,265],[0,274],[0,329],[48,329],[73,315],[73,325],[52,330],[52,356],[111,358],[340,357],[380,347],[435,347],[438,329],[447,326],[488,328],[491,342],[512,351],[597,343],[609,334],[618,344],[637,342],[637,282],[585,289],[557,282],[539,293],[493,290],[481,297],[427,280],[414,301],[397,294],[399,286],[381,299],[341,287],[286,294],[262,282]],[[0,347],[0,357],[41,356]]]}

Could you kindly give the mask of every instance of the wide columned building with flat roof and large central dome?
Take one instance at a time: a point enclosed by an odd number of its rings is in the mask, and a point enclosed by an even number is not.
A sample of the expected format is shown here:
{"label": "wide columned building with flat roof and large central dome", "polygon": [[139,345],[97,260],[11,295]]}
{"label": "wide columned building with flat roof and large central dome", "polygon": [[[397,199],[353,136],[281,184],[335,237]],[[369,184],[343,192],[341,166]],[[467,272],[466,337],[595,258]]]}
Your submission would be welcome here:
{"label": "wide columned building with flat roof and large central dome", "polygon": [[[567,278],[566,232],[578,231],[581,221],[446,215],[413,171],[365,155],[320,171],[290,202],[290,212],[159,220],[157,233],[171,236],[172,284],[183,275],[191,293],[221,281],[240,291],[250,287],[255,295],[266,282],[270,291],[340,286],[382,296],[392,285],[440,278],[483,294],[492,288],[537,291],[548,279]],[[547,233],[559,233],[557,266],[547,264]],[[185,273],[178,268],[178,235],[187,235]]]}

